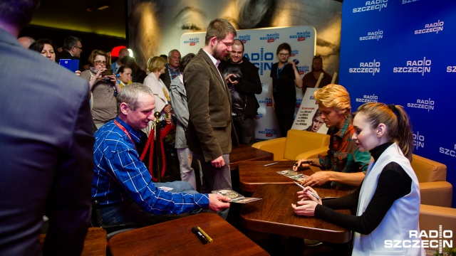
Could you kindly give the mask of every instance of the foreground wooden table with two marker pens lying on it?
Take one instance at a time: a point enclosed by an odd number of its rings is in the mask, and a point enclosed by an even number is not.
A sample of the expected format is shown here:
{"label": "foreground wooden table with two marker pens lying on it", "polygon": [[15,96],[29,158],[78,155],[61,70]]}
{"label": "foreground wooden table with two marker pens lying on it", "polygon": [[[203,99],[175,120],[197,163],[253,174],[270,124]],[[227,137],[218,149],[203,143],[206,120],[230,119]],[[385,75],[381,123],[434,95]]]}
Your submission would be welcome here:
{"label": "foreground wooden table with two marker pens lying on it", "polygon": [[[202,244],[192,233],[199,226],[214,242]],[[215,213],[199,213],[114,235],[110,252],[116,255],[268,255]]]}

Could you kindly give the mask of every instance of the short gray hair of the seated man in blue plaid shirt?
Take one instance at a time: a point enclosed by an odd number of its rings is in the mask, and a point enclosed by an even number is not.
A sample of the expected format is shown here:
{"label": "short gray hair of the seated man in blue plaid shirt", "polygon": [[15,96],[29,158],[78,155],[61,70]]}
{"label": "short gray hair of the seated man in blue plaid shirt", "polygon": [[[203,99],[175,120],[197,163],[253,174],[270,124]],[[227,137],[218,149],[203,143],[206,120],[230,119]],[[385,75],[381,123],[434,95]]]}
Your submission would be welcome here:
{"label": "short gray hair of the seated man in blue plaid shirt", "polygon": [[125,85],[117,95],[117,112],[120,114],[120,104],[125,102],[131,110],[136,110],[140,106],[139,97],[142,93],[147,93],[153,96],[152,90],[140,82],[133,82],[130,85]]}

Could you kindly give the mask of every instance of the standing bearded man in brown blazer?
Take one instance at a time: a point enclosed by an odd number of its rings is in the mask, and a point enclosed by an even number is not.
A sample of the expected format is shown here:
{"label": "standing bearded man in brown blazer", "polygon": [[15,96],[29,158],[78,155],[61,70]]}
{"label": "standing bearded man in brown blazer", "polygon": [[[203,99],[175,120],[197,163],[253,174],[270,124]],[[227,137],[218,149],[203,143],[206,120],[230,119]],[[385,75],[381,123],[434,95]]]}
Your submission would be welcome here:
{"label": "standing bearded man in brown blazer", "polygon": [[[232,188],[229,152],[232,148],[231,96],[217,69],[232,50],[236,30],[223,18],[207,27],[205,45],[184,70],[190,114],[187,142],[202,165],[201,193]],[[235,136],[235,135],[234,135]]]}

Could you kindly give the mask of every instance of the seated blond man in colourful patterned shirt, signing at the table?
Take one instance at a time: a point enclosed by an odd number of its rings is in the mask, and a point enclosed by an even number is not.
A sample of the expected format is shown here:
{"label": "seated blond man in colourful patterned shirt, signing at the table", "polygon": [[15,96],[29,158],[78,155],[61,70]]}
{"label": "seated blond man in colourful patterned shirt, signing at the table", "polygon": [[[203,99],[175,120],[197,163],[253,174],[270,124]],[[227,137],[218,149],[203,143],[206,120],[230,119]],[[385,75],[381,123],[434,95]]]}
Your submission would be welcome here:
{"label": "seated blond man in colourful patterned shirt, signing at the table", "polygon": [[309,164],[301,163],[311,160],[311,165],[328,171],[317,171],[302,184],[353,190],[361,185],[371,154],[359,151],[351,139],[355,129],[351,120],[350,95],[343,86],[331,84],[317,90],[314,97],[318,101],[321,119],[331,135],[329,150],[326,156],[319,156],[318,159],[300,159],[297,166],[307,167]]}

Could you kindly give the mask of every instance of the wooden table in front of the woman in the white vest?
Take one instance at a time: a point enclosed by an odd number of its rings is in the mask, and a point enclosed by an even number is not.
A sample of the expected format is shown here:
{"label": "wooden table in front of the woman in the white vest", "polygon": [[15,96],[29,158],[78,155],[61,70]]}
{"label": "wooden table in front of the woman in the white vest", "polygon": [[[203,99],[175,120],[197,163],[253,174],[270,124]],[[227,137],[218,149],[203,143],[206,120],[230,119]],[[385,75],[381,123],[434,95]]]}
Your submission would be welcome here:
{"label": "wooden table in front of the woman in the white vest", "polygon": [[[296,192],[300,190],[301,188],[295,184],[259,186],[253,197],[263,199],[244,206],[241,212],[242,225],[249,230],[322,242],[343,243],[351,240],[350,230],[318,218],[296,215],[291,203],[299,201]],[[315,188],[315,190],[322,198],[345,194],[343,191],[333,189]],[[349,210],[338,210],[338,212],[350,214]]]}

